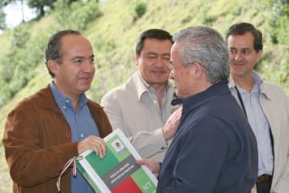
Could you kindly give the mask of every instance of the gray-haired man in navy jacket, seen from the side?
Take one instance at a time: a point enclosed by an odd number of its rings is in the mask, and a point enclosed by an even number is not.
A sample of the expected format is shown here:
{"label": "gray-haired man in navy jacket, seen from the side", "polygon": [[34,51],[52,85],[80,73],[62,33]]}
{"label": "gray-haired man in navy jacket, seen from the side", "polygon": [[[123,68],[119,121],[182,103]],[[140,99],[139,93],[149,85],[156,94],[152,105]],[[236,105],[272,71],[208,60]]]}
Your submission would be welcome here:
{"label": "gray-haired man in navy jacket, seen from the side", "polygon": [[184,29],[173,41],[170,77],[182,98],[179,129],[161,165],[137,162],[158,176],[157,193],[249,193],[256,181],[256,139],[228,89],[226,42],[204,26]]}

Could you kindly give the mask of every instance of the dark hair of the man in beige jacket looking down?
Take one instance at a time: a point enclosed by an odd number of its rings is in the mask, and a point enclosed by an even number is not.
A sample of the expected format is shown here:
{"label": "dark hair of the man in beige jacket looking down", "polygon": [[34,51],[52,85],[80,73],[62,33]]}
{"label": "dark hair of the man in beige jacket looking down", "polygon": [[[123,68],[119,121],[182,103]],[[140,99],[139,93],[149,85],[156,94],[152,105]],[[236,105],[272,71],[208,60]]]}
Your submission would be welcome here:
{"label": "dark hair of the man in beige jacket looking down", "polygon": [[[157,39],[157,40],[169,40],[172,41],[172,35],[161,29],[150,29],[142,32],[136,43],[135,52],[140,55],[144,48],[144,40],[147,38]],[[173,43],[173,41],[172,41]]]}

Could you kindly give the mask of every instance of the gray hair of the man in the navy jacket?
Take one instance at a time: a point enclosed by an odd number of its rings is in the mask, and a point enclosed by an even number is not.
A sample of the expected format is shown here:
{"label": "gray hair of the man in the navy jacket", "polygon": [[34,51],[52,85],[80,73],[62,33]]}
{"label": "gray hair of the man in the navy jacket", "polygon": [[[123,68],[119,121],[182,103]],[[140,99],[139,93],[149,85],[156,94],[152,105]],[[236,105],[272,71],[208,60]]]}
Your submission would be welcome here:
{"label": "gray hair of the man in the navy jacket", "polygon": [[219,32],[210,27],[193,26],[174,34],[172,40],[180,45],[182,65],[200,63],[211,84],[228,79],[228,47]]}

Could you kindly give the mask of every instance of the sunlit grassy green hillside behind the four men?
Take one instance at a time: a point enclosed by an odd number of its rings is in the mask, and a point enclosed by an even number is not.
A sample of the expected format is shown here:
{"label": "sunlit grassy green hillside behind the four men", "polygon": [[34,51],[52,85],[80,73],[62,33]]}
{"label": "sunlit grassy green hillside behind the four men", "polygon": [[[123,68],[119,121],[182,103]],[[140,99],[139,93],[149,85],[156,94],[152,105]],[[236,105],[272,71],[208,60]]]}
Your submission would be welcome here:
{"label": "sunlit grassy green hillside behind the four men", "polygon": [[[271,41],[272,34],[270,32],[275,31],[268,23],[272,19],[272,9],[268,5],[269,0],[264,0],[264,2],[248,0],[147,0],[143,1],[146,2],[145,14],[137,19],[135,19],[137,1],[107,0],[100,2],[102,3],[99,3],[99,7],[94,10],[95,12],[100,11],[101,15],[96,15],[95,19],[91,19],[91,15],[94,16],[96,13],[86,5],[82,7],[72,6],[73,12],[67,10],[67,8],[59,7],[58,10],[51,12],[40,21],[23,23],[22,25],[27,31],[25,31],[27,40],[21,39],[21,41],[24,41],[23,44],[26,46],[26,50],[16,50],[15,55],[8,54],[14,49],[12,48],[14,45],[12,40],[15,31],[4,32],[0,35],[0,44],[2,45],[0,47],[0,72],[7,71],[8,73],[9,70],[18,68],[14,66],[14,63],[11,63],[14,60],[15,62],[22,61],[21,65],[23,67],[26,67],[25,65],[29,66],[29,68],[23,68],[23,74],[14,73],[13,79],[2,86],[18,87],[19,85],[14,86],[14,82],[23,76],[27,77],[25,86],[20,90],[16,89],[14,95],[9,97],[8,101],[5,101],[4,106],[0,107],[1,138],[8,112],[23,97],[33,94],[51,81],[44,66],[43,52],[45,44],[52,33],[68,28],[81,30],[94,47],[98,69],[88,95],[97,102],[109,89],[123,83],[135,71],[135,41],[140,32],[149,28],[163,28],[174,33],[182,28],[200,24],[211,26],[222,34],[232,23],[248,22],[255,24],[264,32],[265,36],[264,58],[256,70],[264,78],[284,87],[287,93],[289,91],[288,86],[285,87],[288,77],[289,43],[286,42],[286,45],[285,42],[274,43]],[[84,14],[90,14],[90,17],[86,17],[87,15]],[[89,18],[89,22],[81,20],[82,18]],[[284,40],[287,40],[287,38],[285,37]],[[7,56],[15,59],[7,59]],[[5,95],[5,91],[0,94],[0,96]],[[0,192],[10,192],[11,180],[9,179],[2,144],[0,180],[5,185],[0,187]]]}

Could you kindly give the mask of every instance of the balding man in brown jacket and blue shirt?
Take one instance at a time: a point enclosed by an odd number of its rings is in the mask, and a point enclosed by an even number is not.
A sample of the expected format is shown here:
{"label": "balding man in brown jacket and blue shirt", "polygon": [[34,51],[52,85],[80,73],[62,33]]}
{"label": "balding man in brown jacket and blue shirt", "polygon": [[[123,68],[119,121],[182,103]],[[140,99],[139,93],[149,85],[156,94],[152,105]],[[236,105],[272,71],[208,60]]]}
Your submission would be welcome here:
{"label": "balding man in brown jacket and blue shirt", "polygon": [[106,154],[102,138],[112,132],[107,115],[85,92],[94,78],[94,53],[80,32],[51,36],[45,52],[51,84],[23,99],[8,115],[3,144],[13,192],[93,192],[71,158],[87,150]]}

